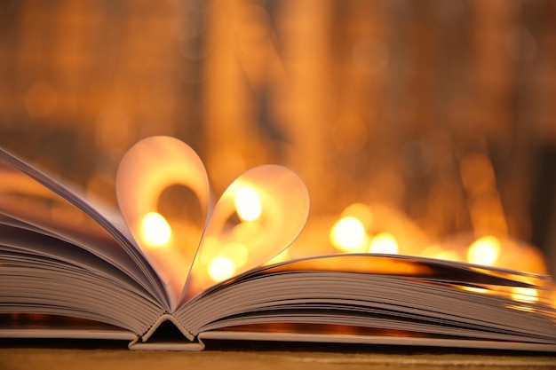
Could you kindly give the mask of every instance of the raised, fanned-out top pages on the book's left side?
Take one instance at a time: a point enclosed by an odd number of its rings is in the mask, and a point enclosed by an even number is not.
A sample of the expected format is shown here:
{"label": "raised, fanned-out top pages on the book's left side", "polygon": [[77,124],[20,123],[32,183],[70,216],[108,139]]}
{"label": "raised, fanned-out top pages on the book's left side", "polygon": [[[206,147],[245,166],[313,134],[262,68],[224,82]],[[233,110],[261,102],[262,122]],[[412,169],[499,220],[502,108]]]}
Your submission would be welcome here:
{"label": "raised, fanned-out top pages on the book's left side", "polygon": [[[149,287],[161,302],[167,301],[160,279],[130,239],[123,223],[115,222],[117,212],[85,201],[68,186],[3,149],[0,149],[0,171],[1,214],[88,248]],[[76,225],[75,220],[82,223]]]}

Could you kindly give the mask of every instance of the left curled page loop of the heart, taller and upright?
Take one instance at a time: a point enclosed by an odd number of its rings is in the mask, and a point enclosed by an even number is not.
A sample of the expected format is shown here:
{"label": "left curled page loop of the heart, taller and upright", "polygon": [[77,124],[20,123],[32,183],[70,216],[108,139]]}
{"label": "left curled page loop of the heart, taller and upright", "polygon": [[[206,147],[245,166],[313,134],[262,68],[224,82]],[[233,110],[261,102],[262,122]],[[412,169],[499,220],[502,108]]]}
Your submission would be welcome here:
{"label": "left curled page loop of the heart, taller and upright", "polygon": [[[195,194],[201,223],[173,219],[160,209],[164,191],[183,186]],[[123,156],[116,176],[118,204],[141,252],[177,307],[210,215],[209,179],[195,151],[176,138],[145,138]],[[173,200],[186,208],[183,199]],[[187,213],[187,209],[184,209]],[[187,229],[188,232],[180,232]]]}

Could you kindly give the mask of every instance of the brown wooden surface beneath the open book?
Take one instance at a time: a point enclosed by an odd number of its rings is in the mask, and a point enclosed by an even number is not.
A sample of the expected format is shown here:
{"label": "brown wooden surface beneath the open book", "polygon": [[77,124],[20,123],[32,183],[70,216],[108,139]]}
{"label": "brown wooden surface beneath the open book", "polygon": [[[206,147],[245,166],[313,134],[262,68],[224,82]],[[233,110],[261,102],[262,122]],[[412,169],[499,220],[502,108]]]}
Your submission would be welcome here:
{"label": "brown wooden surface beneath the open book", "polygon": [[[46,345],[45,345],[46,344]],[[102,347],[99,347],[101,345]],[[121,343],[0,342],[0,369],[556,369],[554,353],[310,346],[220,346],[203,352],[132,351]]]}

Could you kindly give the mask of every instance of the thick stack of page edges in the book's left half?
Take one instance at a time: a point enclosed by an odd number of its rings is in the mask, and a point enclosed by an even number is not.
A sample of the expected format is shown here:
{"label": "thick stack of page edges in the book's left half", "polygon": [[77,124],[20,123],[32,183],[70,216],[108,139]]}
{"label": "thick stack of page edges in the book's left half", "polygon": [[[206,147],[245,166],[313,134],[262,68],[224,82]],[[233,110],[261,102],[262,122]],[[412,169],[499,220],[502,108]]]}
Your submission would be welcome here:
{"label": "thick stack of page edges in the book's left half", "polygon": [[[68,264],[17,248],[0,248],[0,314],[40,313],[91,319],[145,333],[165,311],[140,290],[106,271]],[[123,308],[125,308],[123,310]],[[0,336],[4,327],[0,328]]]}

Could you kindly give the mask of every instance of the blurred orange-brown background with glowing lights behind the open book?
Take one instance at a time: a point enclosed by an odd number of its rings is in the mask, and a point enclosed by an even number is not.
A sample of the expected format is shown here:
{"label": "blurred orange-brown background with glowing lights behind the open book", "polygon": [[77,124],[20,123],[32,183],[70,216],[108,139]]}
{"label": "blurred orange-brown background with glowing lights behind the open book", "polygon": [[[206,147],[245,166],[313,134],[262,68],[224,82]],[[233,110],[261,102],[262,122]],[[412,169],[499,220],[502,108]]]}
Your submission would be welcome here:
{"label": "blurred orange-brown background with glowing lights behind the open book", "polygon": [[151,135],[215,193],[284,164],[312,201],[290,257],[498,243],[556,273],[555,97],[551,1],[0,2],[0,146],[113,204]]}

